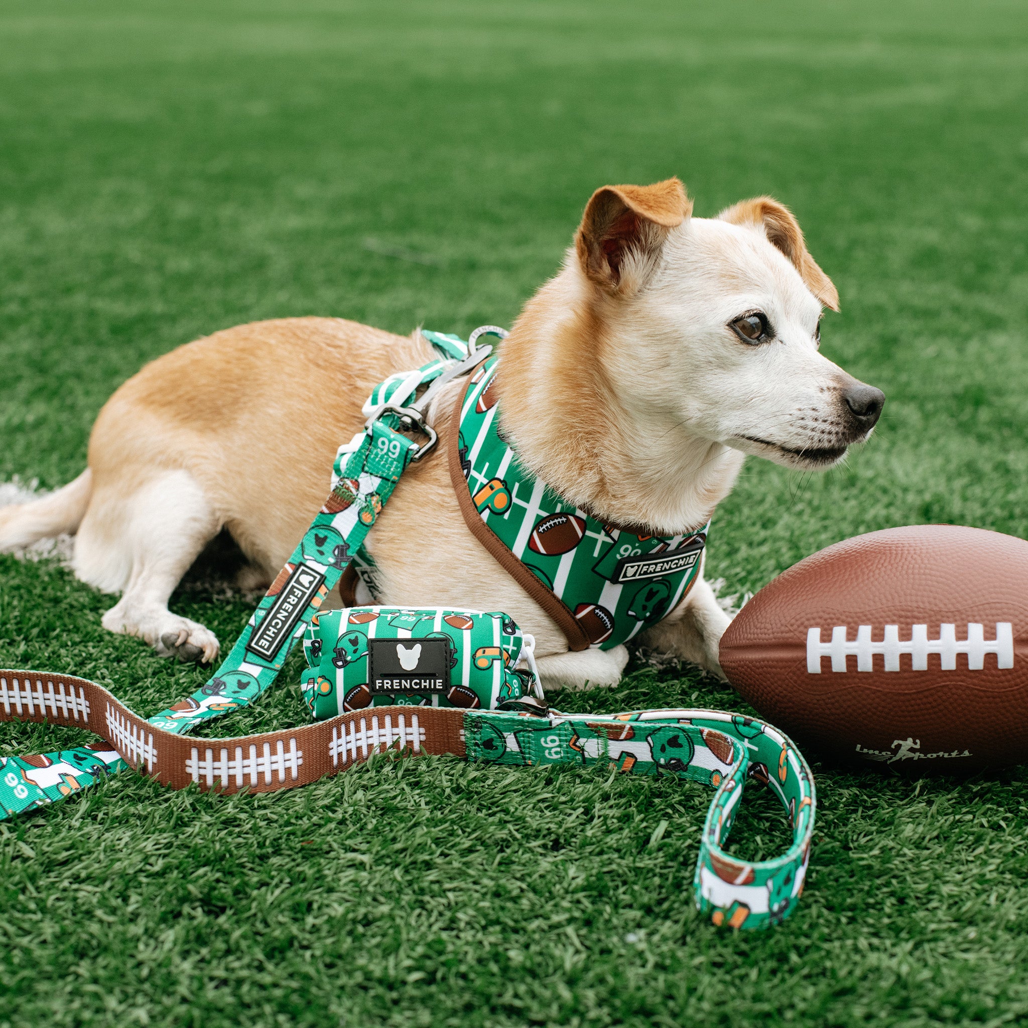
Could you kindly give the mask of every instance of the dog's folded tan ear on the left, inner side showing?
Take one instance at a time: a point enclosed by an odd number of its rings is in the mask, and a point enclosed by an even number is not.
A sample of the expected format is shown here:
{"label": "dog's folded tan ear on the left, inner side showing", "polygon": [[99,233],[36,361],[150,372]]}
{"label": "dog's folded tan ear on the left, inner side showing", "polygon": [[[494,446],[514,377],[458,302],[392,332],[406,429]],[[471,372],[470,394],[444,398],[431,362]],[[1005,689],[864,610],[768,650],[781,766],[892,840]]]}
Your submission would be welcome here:
{"label": "dog's folded tan ear on the left, inner side showing", "polygon": [[608,292],[632,291],[656,266],[668,229],[692,211],[693,201],[677,179],[597,189],[575,235],[582,270]]}

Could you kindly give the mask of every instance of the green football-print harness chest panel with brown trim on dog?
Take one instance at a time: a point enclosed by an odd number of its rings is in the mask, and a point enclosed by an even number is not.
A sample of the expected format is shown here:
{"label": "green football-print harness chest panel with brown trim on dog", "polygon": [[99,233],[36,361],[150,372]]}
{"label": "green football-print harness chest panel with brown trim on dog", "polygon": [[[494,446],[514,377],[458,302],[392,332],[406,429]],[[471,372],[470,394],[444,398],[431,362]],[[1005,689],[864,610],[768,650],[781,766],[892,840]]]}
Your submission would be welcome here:
{"label": "green football-print harness chest panel with brown trim on dog", "polygon": [[695,584],[710,524],[655,536],[604,523],[518,463],[504,438],[490,357],[454,423],[450,477],[468,526],[547,614],[572,650],[610,650],[655,625]]}

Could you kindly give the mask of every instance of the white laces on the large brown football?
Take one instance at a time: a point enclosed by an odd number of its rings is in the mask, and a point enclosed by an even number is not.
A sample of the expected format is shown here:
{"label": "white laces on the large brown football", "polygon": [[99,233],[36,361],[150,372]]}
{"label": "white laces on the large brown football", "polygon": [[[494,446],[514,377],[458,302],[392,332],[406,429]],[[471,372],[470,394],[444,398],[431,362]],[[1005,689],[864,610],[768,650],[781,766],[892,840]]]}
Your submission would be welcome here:
{"label": "white laces on the large brown football", "polygon": [[856,657],[858,671],[875,669],[875,655],[881,655],[882,665],[886,671],[900,670],[900,658],[907,654],[910,657],[912,671],[928,670],[928,656],[938,654],[940,669],[955,671],[957,656],[967,658],[967,669],[981,671],[985,668],[986,654],[995,654],[996,667],[1004,670],[1014,666],[1014,626],[1009,621],[996,622],[993,630],[994,638],[985,637],[985,626],[968,624],[965,636],[957,638],[956,625],[940,625],[939,638],[928,638],[927,625],[911,625],[910,638],[900,638],[898,625],[885,625],[882,638],[871,637],[871,625],[860,625],[856,629],[856,638],[847,637],[846,625],[836,625],[832,629],[832,639],[821,641],[820,628],[807,629],[807,671],[810,674],[821,673],[821,659],[828,657],[832,661],[833,671],[848,670],[846,664],[849,657]]}

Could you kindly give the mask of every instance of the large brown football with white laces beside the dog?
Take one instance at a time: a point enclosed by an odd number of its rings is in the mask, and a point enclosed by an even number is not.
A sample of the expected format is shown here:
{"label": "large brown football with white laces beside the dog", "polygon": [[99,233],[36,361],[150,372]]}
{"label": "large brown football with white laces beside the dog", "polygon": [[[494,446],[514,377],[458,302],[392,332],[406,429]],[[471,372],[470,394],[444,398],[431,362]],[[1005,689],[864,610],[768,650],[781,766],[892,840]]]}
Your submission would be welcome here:
{"label": "large brown football with white laces beside the dog", "polygon": [[828,756],[941,772],[1028,761],[1028,542],[915,525],[837,543],[742,608],[721,664]]}

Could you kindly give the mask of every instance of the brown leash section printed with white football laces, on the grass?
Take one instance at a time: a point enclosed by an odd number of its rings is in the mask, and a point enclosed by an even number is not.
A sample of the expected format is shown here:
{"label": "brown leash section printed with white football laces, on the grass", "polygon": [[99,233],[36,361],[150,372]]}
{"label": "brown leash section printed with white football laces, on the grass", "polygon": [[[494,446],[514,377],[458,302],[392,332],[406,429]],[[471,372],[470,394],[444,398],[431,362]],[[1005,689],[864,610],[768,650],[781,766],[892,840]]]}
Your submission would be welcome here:
{"label": "brown leash section printed with white football laces, on the grass", "polygon": [[95,682],[42,671],[0,671],[0,721],[87,728],[163,785],[221,793],[296,788],[391,748],[466,756],[456,708],[368,707],[283,732],[196,739],[156,728]]}

